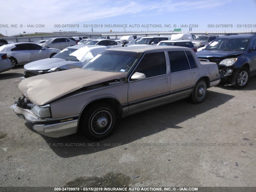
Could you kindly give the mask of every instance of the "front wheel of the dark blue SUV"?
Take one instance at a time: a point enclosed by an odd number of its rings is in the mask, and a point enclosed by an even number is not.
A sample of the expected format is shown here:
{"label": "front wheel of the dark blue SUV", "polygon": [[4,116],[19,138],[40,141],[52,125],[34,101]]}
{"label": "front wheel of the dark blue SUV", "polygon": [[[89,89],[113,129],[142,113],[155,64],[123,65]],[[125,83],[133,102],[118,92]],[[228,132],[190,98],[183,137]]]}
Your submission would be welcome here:
{"label": "front wheel of the dark blue SUV", "polygon": [[249,80],[249,70],[242,67],[240,70],[234,72],[234,82],[233,85],[237,89],[242,89],[248,84]]}

